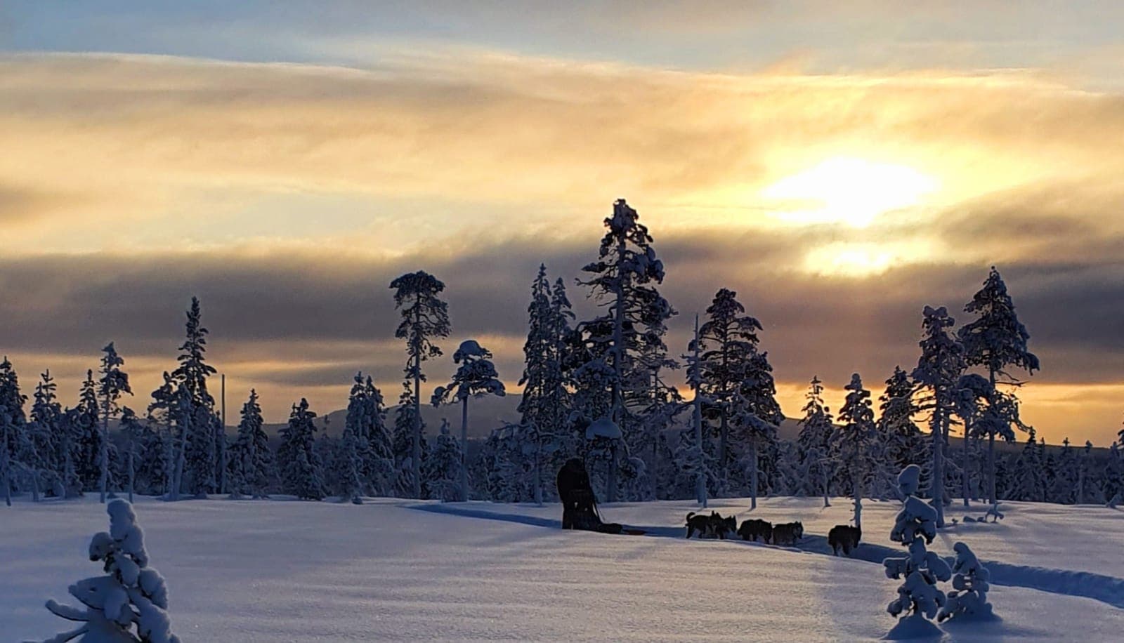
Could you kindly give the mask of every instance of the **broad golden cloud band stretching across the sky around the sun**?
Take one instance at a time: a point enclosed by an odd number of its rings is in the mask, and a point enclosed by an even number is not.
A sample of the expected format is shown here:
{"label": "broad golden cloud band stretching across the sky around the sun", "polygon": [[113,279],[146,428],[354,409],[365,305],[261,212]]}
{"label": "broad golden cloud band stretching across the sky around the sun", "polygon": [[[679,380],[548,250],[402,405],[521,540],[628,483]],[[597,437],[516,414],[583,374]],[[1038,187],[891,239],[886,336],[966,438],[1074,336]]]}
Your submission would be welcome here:
{"label": "broad golden cloud band stretching across the sky around the sun", "polygon": [[78,196],[31,201],[25,218],[91,229],[269,216],[261,201],[308,193],[453,203],[446,220],[493,205],[505,214],[490,223],[518,225],[637,194],[655,224],[760,224],[762,188],[841,154],[935,175],[928,205],[948,207],[1042,181],[1118,184],[1122,132],[1121,97],[1026,72],[733,75],[488,53],[369,69],[0,58],[0,181]]}

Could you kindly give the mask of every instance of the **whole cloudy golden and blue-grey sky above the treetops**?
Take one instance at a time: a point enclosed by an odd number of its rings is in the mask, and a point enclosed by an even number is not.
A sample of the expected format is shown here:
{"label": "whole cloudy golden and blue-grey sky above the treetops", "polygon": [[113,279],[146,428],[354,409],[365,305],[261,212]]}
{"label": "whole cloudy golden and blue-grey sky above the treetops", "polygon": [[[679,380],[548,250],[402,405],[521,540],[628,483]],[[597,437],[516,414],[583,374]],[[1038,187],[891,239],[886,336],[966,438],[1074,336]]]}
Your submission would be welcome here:
{"label": "whole cloudy golden and blue-grey sky above the treetops", "polygon": [[251,387],[272,422],[343,408],[357,370],[393,400],[389,283],[422,269],[446,357],[477,338],[518,390],[538,264],[589,315],[573,279],[626,198],[672,352],[737,291],[788,415],[813,375],[837,406],[852,372],[916,365],[923,307],[967,322],[996,265],[1042,361],[1024,418],[1107,445],[1122,24],[1109,1],[9,0],[0,353],[73,404],[115,341],[144,407],[197,295],[232,416]]}

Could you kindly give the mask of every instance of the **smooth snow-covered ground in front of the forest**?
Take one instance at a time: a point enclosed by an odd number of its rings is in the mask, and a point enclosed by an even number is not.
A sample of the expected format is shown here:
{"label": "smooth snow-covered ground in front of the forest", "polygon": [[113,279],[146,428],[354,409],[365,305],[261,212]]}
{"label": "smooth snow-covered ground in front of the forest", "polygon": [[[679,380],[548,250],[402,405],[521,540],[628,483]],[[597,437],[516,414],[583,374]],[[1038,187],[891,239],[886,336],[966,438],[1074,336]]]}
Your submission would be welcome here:
{"label": "smooth snow-covered ground in front of the forest", "polygon": [[[753,511],[801,519],[801,550],[685,541],[680,525],[695,508],[687,501],[602,508],[609,520],[655,527],[655,537],[562,532],[558,506],[139,500],[137,514],[185,642],[878,639],[895,623],[885,606],[897,582],[861,559],[891,545],[896,506],[865,506],[870,544],[849,560],[817,553],[825,546],[817,536],[849,513],[845,499],[821,504],[774,498]],[[711,504],[740,518],[746,506]],[[951,640],[1118,641],[1124,514],[1004,509],[998,525],[958,525],[931,547],[949,555],[963,540],[982,561],[1003,564],[989,598],[1004,621],[981,634],[948,626]],[[0,639],[63,631],[43,603],[69,598],[67,585],[100,572],[85,552],[107,528],[103,507],[17,502],[0,507]],[[1049,591],[1024,587],[1034,582]],[[1090,594],[1088,586],[1099,599],[1070,596]]]}

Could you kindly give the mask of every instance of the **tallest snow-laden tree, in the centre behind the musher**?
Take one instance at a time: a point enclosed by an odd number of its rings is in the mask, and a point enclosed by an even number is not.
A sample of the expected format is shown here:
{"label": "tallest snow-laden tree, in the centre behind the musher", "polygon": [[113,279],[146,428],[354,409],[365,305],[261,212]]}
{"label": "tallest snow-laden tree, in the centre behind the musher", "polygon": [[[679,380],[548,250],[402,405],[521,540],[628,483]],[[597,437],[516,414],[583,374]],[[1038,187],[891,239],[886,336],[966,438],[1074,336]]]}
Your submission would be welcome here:
{"label": "tallest snow-laden tree, in the centre behind the musher", "polygon": [[[608,419],[620,427],[627,452],[644,453],[658,440],[660,427],[640,422],[634,411],[647,407],[653,397],[651,387],[658,380],[653,371],[673,365],[667,359],[663,336],[676,310],[656,289],[663,282],[663,262],[656,259],[652,236],[638,219],[624,199],[614,202],[613,216],[605,219],[607,232],[598,260],[582,268],[590,277],[578,283],[588,287],[590,298],[605,310],[577,327],[580,347],[575,354],[582,359],[578,371],[584,373],[575,372],[574,379],[608,387]],[[578,386],[580,389],[581,383]],[[580,406],[575,404],[575,408]],[[582,414],[581,424],[587,426],[601,418],[586,410]],[[614,454],[610,460],[606,500],[611,502],[616,499],[617,464],[629,462],[629,458]]]}

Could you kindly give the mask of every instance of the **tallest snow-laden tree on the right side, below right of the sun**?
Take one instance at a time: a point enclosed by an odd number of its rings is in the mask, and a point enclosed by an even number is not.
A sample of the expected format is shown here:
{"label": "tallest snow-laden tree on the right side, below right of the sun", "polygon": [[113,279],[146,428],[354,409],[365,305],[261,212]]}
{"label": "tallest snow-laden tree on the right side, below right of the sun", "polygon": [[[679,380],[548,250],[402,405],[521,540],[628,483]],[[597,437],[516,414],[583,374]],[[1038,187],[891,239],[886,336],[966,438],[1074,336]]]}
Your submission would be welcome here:
{"label": "tallest snow-laden tree on the right side, below right of the sun", "polygon": [[[960,328],[960,341],[964,346],[964,360],[968,365],[982,366],[987,370],[991,382],[994,397],[989,400],[989,409],[985,413],[988,422],[982,432],[988,437],[988,498],[997,500],[995,495],[995,438],[996,435],[1007,442],[1014,442],[1010,426],[1022,427],[1018,419],[1018,407],[1004,404],[999,399],[999,384],[1017,387],[1019,382],[1007,369],[1014,366],[1030,374],[1039,370],[1039,359],[1031,353],[1026,343],[1031,334],[1018,320],[1015,305],[1007,293],[1007,284],[999,277],[999,271],[991,266],[984,287],[972,300],[964,306],[964,311],[979,315],[978,318]],[[1010,415],[1014,413],[1015,415]]]}

